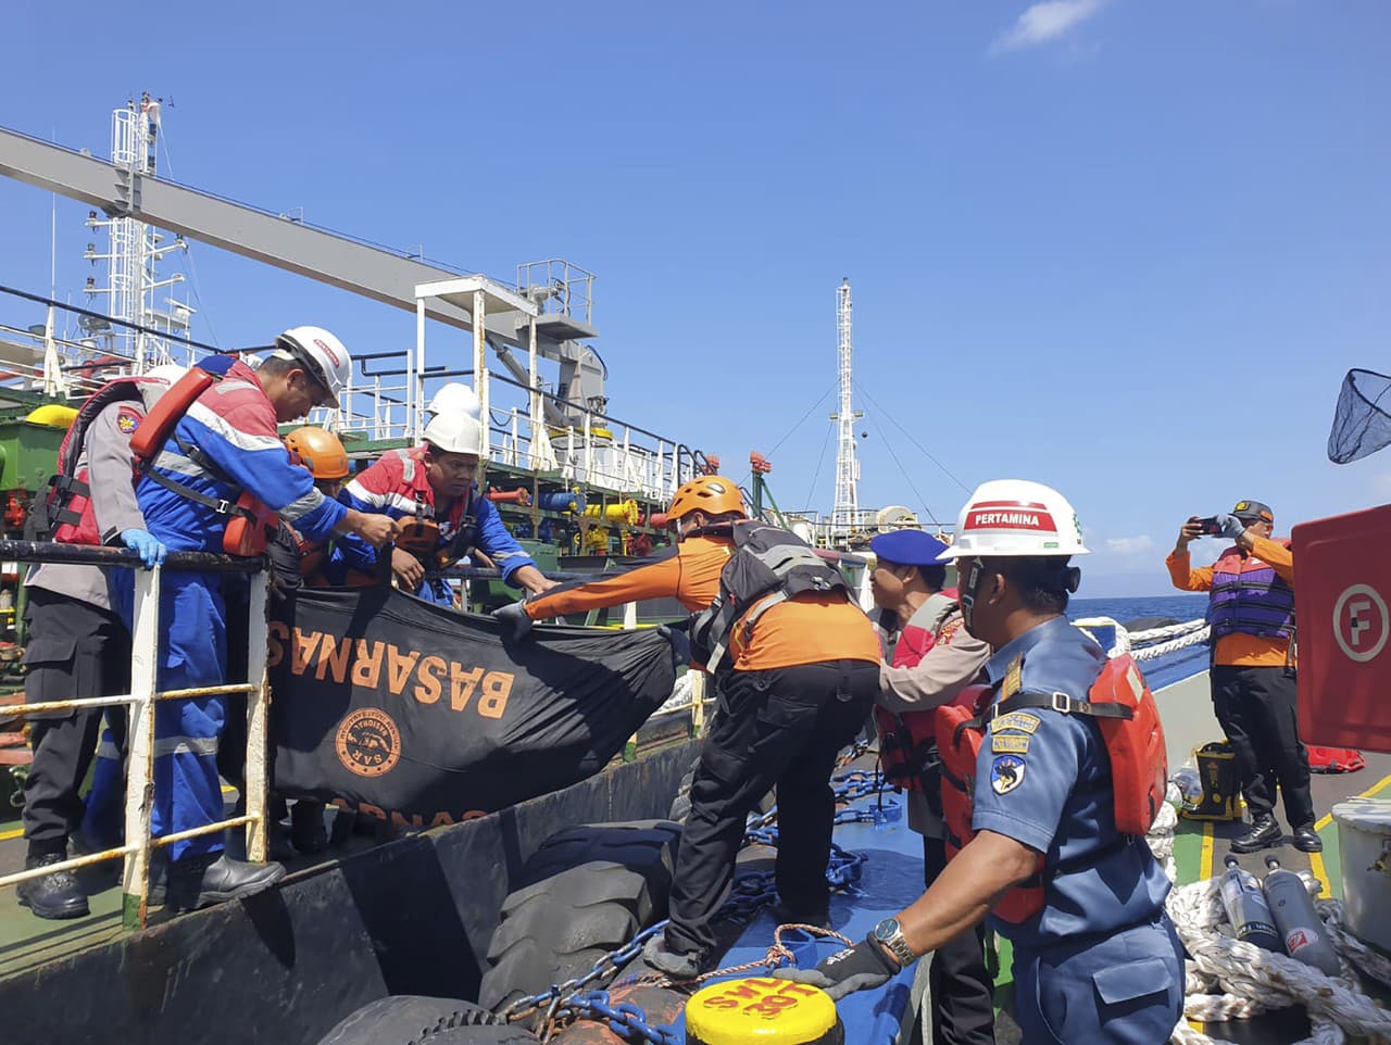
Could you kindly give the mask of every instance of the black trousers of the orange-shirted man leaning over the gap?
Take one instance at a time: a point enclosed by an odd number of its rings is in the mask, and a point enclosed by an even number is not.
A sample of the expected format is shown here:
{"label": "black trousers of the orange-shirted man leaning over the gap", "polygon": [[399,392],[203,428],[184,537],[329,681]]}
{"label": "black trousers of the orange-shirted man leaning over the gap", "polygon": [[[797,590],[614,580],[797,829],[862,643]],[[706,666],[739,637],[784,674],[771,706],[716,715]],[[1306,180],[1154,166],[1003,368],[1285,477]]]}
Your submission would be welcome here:
{"label": "black trousers of the orange-shirted man leaning over the gap", "polygon": [[691,782],[691,812],[672,884],[675,952],[709,953],[712,923],[729,898],[744,818],[778,788],[778,892],[794,912],[823,910],[836,802],[836,755],[864,724],[879,666],[835,660],[730,671]]}

